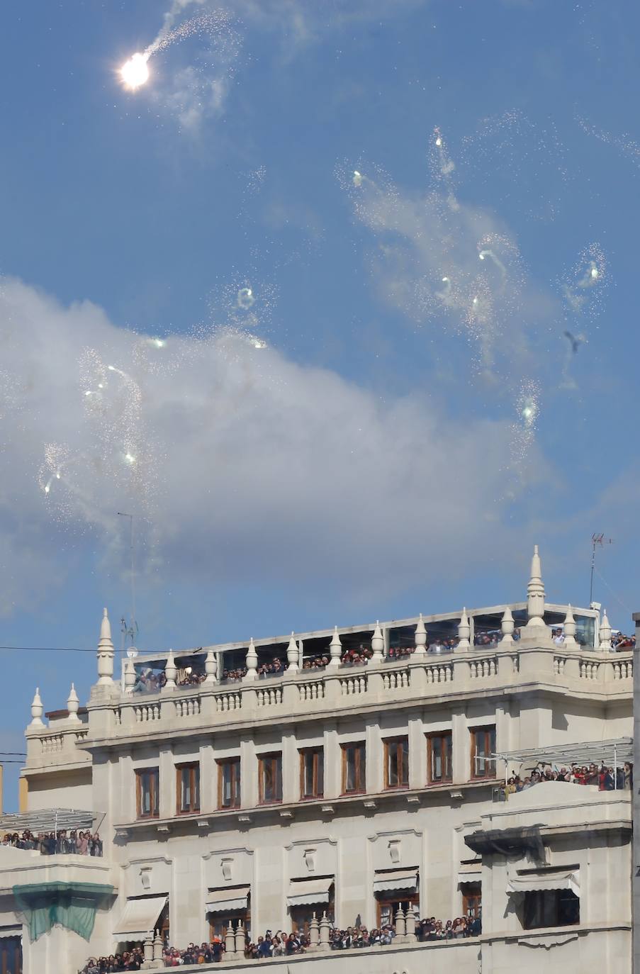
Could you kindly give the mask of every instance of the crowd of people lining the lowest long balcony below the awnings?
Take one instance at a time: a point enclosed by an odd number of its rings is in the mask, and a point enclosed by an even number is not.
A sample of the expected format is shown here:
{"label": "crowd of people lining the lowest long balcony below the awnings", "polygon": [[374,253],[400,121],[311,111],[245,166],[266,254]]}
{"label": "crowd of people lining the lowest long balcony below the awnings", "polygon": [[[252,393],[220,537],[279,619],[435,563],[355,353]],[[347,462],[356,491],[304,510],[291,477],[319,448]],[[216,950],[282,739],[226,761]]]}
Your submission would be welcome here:
{"label": "crowd of people lining the lowest long balcony below the awnings", "polygon": [[[416,938],[423,943],[438,940],[461,940],[476,937],[482,932],[479,917],[458,917],[446,921],[434,917],[416,922]],[[331,951],[346,951],[363,947],[385,947],[394,943],[395,927],[391,924],[374,927],[364,925],[348,926],[345,929],[333,927],[329,930],[328,946]],[[308,934],[278,930],[267,930],[264,936],[255,941],[247,938],[245,959],[266,960],[269,957],[284,957],[305,954],[310,948]],[[217,963],[224,958],[224,938],[212,937],[210,942],[191,943],[185,950],[165,946],[163,960],[165,967],[179,967],[184,964]],[[137,971],[144,959],[141,946],[133,947],[123,954],[90,957],[79,974],[114,974],[117,971]]]}

